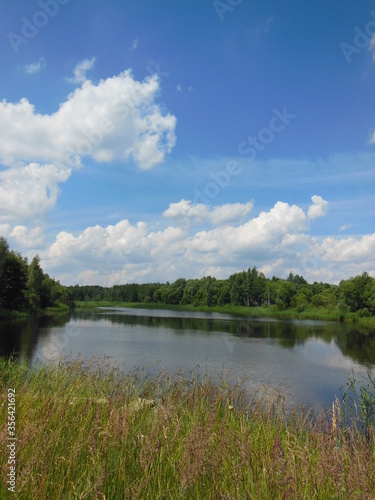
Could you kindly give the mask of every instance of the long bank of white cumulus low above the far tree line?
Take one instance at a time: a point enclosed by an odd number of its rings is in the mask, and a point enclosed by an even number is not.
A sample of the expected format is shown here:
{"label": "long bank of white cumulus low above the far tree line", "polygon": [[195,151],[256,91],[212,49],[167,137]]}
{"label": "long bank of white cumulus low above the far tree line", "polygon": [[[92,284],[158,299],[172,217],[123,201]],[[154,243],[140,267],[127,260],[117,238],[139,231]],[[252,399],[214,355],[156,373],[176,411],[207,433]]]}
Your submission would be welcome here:
{"label": "long bank of white cumulus low above the far tree line", "polygon": [[[215,212],[222,207],[204,211],[204,207],[184,201],[172,206],[174,215],[185,210],[190,211],[192,217],[222,220],[220,211]],[[244,210],[244,206],[240,208]],[[246,211],[249,208],[246,207]],[[155,231],[144,222],[132,225],[123,220],[107,227],[89,227],[78,235],[59,233],[43,254],[43,264],[67,283],[74,283],[78,274],[85,282],[91,277],[92,283],[107,284],[119,282],[117,280],[167,281],[181,276],[203,276],[214,269],[219,275],[225,275],[293,254],[301,245],[306,245],[305,228],[303,210],[282,202],[243,224],[227,224],[207,231],[190,232],[173,225]],[[66,274],[67,268],[73,273],[70,276]],[[99,275],[92,274],[98,270]]]}

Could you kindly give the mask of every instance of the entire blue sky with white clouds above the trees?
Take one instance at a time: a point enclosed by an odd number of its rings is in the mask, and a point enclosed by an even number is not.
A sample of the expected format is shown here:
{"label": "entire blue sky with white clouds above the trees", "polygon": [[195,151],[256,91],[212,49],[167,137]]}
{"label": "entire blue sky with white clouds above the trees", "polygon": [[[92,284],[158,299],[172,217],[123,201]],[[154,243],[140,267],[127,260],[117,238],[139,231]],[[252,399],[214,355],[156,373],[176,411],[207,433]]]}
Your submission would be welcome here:
{"label": "entire blue sky with white clouds above the trees", "polygon": [[372,2],[2,4],[12,248],[63,284],[375,276]]}

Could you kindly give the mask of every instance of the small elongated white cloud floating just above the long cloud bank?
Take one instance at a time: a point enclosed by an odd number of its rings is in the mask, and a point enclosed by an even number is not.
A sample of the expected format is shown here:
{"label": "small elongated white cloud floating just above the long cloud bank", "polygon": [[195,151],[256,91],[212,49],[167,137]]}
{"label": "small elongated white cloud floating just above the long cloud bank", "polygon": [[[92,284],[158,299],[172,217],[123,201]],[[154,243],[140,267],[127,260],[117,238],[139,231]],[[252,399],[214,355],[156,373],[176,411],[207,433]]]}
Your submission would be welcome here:
{"label": "small elongated white cloud floating just above the long cloud bank", "polygon": [[182,199],[178,203],[171,203],[163,212],[163,217],[175,219],[179,222],[203,223],[210,222],[215,225],[238,222],[246,217],[252,210],[253,203],[227,203],[225,205],[210,207],[203,203],[194,204],[190,200]]}

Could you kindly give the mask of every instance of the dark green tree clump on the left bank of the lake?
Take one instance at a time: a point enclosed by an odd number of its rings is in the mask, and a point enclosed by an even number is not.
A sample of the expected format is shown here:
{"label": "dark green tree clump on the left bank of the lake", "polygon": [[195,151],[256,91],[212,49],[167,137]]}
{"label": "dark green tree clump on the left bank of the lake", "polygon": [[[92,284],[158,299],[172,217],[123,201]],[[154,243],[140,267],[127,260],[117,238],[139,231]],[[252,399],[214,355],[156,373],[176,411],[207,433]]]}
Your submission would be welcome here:
{"label": "dark green tree clump on the left bank of the lake", "polygon": [[0,237],[0,311],[37,313],[59,304],[73,306],[69,290],[43,272],[38,256],[29,263]]}

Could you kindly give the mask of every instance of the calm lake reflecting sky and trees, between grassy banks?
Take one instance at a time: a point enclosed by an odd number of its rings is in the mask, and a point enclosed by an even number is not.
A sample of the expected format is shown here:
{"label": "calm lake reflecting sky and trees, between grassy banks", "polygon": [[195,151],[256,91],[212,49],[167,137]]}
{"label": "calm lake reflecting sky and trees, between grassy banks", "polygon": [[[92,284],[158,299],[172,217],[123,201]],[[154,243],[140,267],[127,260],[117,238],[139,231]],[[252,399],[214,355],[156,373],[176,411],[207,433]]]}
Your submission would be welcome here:
{"label": "calm lake reflecting sky and trees, between grassy banks", "polygon": [[141,368],[244,381],[251,393],[279,387],[290,405],[329,408],[353,372],[375,376],[375,332],[310,320],[242,319],[219,313],[100,308],[63,317],[0,322],[0,354],[32,365],[106,357],[124,371]]}

